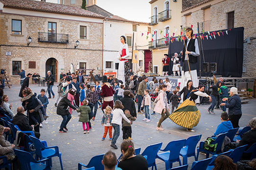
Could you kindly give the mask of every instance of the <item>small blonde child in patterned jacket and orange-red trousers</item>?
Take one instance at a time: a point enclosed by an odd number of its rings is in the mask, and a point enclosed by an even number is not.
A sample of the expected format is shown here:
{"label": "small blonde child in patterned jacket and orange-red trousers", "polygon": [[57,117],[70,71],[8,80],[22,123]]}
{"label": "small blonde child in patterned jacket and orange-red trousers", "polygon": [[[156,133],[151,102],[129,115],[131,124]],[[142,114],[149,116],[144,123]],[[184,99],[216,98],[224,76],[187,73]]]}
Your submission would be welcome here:
{"label": "small blonde child in patterned jacket and orange-red trousers", "polygon": [[110,140],[112,140],[112,119],[113,119],[113,114],[112,112],[112,108],[110,106],[107,106],[105,109],[105,114],[102,116],[102,120],[101,120],[101,125],[104,125],[104,134],[102,137],[102,141],[105,140],[108,131],[109,131],[109,135],[110,135]]}

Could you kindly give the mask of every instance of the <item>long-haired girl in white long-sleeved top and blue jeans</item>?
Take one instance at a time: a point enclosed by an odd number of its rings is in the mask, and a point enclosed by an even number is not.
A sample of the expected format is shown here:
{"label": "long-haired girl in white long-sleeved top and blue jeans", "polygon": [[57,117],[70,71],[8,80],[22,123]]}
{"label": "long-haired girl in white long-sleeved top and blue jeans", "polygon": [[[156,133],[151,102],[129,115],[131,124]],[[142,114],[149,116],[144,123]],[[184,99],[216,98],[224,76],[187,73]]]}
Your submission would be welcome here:
{"label": "long-haired girl in white long-sleeved top and blue jeans", "polygon": [[112,127],[114,128],[114,134],[113,134],[113,138],[112,138],[112,142],[110,144],[110,146],[114,149],[118,149],[116,142],[117,139],[120,135],[120,125],[122,125],[122,118],[127,121],[128,123],[132,123],[124,114],[123,112],[123,108],[124,106],[122,105],[122,102],[117,100],[115,102],[115,110],[113,111],[113,119],[112,119]]}

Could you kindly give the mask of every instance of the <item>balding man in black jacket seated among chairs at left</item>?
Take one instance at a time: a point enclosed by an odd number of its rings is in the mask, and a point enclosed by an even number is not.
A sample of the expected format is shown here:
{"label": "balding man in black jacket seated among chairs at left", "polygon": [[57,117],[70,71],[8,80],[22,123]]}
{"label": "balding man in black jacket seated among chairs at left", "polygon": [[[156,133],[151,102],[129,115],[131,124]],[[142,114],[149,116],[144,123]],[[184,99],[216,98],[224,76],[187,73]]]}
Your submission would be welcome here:
{"label": "balding man in black jacket seated among chairs at left", "polygon": [[[24,114],[25,110],[22,106],[17,109],[17,115],[15,115],[11,121],[14,125],[17,125],[21,131],[32,131],[33,127],[29,126],[28,117]],[[40,133],[35,132],[35,136],[39,139]]]}

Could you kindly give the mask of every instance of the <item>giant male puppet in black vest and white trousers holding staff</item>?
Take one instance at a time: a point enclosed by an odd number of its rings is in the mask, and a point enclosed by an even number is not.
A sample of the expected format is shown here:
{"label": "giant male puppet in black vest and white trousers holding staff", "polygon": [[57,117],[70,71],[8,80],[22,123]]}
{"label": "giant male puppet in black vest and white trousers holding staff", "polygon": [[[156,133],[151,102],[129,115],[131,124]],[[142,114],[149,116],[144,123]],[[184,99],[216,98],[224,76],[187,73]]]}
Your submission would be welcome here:
{"label": "giant male puppet in black vest and white trousers holding staff", "polygon": [[192,80],[193,86],[198,86],[196,63],[197,56],[200,55],[198,48],[197,39],[192,39],[193,30],[188,27],[185,30],[187,40],[185,40],[183,45],[183,69],[182,69],[182,78],[181,78],[181,87],[186,85],[188,80]]}

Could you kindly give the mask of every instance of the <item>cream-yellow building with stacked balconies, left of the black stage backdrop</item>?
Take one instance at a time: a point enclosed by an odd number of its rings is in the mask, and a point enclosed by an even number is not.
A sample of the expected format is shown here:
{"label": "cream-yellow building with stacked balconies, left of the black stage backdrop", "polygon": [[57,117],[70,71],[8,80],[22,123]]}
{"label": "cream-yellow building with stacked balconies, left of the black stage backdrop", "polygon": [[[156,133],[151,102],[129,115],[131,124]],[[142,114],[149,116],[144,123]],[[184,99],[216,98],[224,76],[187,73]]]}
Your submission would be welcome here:
{"label": "cream-yellow building with stacked balconies, left of the black stage backdrop", "polygon": [[164,54],[168,54],[169,37],[173,36],[173,33],[174,36],[180,33],[182,0],[150,0],[149,3],[151,4],[149,49],[152,49],[153,72],[161,75],[162,59]]}

